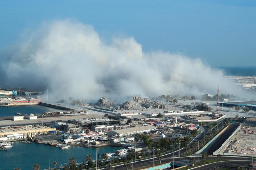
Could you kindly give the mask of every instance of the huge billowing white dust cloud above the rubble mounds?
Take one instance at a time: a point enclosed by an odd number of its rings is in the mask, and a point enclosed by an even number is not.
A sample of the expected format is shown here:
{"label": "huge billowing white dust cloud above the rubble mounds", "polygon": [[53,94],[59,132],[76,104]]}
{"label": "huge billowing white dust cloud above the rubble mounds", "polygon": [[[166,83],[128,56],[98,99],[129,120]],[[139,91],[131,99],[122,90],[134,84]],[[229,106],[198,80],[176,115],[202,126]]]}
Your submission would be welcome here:
{"label": "huge billowing white dust cloud above the rubble mounds", "polygon": [[[70,20],[48,22],[1,55],[5,84],[49,89],[52,98],[123,102],[142,94],[233,93],[222,71],[181,54],[143,52],[131,38],[104,43],[92,26]],[[179,91],[179,92],[178,92]],[[223,91],[222,91],[223,92]],[[223,92],[224,93],[224,92]]]}

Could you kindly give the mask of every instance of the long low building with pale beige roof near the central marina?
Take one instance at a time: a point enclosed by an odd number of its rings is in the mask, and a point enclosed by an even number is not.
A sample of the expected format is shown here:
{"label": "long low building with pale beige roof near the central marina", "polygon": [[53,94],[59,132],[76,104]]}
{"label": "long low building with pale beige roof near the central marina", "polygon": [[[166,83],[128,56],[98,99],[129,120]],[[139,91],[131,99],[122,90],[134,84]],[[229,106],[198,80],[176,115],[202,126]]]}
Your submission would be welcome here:
{"label": "long low building with pale beige roof near the central marina", "polygon": [[112,130],[108,132],[108,135],[118,135],[118,136],[124,136],[124,135],[133,135],[136,133],[143,133],[143,132],[150,132],[151,130],[156,129],[155,126],[148,125],[148,126],[140,126],[136,128],[129,128],[129,129],[121,129],[121,130]]}

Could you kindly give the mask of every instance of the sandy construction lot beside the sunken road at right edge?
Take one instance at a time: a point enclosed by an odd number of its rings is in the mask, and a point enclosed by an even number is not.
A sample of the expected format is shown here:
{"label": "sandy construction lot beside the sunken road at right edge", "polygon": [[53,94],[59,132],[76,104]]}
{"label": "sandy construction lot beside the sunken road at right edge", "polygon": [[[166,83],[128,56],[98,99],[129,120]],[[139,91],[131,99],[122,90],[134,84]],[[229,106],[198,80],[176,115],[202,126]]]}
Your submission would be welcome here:
{"label": "sandy construction lot beside the sunken road at right edge", "polygon": [[229,140],[228,144],[220,152],[255,154],[256,128],[244,126]]}

